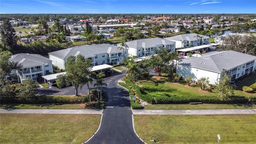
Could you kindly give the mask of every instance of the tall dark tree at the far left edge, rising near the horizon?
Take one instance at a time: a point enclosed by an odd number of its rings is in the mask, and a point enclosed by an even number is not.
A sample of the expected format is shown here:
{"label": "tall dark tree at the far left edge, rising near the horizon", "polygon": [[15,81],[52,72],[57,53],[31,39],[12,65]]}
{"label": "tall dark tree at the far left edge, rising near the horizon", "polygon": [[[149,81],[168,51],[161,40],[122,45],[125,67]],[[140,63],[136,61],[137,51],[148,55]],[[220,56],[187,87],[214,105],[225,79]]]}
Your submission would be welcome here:
{"label": "tall dark tree at the far left edge, rising near the horizon", "polygon": [[16,31],[12,27],[9,19],[4,20],[2,26],[0,26],[1,42],[3,43],[3,50],[9,50],[10,47],[12,52],[15,52],[15,47],[17,46],[17,36],[15,36]]}

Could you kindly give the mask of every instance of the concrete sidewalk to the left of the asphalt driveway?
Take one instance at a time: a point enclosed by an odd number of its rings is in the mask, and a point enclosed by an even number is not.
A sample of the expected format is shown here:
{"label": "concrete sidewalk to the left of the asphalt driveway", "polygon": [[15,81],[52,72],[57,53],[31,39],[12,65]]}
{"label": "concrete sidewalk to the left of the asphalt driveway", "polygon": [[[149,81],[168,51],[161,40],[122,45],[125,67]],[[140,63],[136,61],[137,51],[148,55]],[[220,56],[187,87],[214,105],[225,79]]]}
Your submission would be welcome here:
{"label": "concrete sidewalk to the left of the asphalt driveway", "polygon": [[103,109],[0,109],[4,114],[102,114]]}

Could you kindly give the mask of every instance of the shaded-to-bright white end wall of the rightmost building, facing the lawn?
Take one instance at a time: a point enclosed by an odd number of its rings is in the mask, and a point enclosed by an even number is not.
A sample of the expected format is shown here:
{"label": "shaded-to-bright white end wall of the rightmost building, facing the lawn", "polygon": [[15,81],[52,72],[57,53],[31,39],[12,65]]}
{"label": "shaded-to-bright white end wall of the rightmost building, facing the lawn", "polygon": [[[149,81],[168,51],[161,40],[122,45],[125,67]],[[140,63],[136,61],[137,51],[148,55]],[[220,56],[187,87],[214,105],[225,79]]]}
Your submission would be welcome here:
{"label": "shaded-to-bright white end wall of the rightmost building, facing the lawn", "polygon": [[197,79],[202,77],[209,77],[210,84],[215,84],[220,78],[220,74],[217,72],[193,68],[186,65],[178,65],[177,73],[181,74],[183,78],[186,78],[187,76],[194,77],[194,81],[197,81]]}

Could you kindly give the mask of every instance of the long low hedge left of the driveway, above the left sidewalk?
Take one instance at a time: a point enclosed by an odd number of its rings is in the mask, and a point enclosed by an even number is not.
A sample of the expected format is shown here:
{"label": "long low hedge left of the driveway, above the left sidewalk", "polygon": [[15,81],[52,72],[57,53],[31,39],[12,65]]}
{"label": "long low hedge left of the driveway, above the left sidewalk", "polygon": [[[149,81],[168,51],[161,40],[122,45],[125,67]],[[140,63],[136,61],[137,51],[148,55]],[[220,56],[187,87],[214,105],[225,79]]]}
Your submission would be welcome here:
{"label": "long low hedge left of the driveway, above the left sidewalk", "polygon": [[77,96],[77,97],[54,97],[54,96],[35,96],[29,99],[20,99],[17,97],[0,97],[1,103],[22,103],[22,104],[42,104],[42,103],[62,103],[62,104],[75,104],[84,103],[89,101],[89,97]]}

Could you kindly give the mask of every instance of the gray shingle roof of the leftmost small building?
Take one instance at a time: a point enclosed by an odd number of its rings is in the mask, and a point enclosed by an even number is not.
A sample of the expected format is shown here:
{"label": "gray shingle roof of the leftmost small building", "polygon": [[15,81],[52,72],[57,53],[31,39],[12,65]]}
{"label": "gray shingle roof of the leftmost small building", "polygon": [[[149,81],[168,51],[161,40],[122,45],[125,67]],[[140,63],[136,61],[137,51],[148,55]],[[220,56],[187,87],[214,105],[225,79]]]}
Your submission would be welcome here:
{"label": "gray shingle roof of the leftmost small building", "polygon": [[10,60],[13,62],[19,62],[23,67],[39,66],[43,63],[51,63],[48,58],[39,54],[19,53],[11,56]]}

